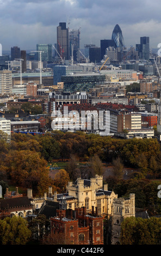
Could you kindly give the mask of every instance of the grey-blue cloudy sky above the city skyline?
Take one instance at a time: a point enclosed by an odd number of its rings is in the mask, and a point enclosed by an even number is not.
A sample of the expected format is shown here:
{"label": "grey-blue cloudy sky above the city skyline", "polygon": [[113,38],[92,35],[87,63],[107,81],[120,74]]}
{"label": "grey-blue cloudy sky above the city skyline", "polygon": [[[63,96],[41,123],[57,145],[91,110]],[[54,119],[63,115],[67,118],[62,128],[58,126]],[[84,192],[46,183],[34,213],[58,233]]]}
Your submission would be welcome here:
{"label": "grey-blue cloudy sky above the city skyline", "polygon": [[100,46],[119,24],[127,48],[139,44],[140,36],[150,36],[150,47],[157,48],[160,6],[159,0],[0,0],[0,43],[3,50],[54,44],[59,22],[66,22],[71,29],[80,28],[80,47]]}

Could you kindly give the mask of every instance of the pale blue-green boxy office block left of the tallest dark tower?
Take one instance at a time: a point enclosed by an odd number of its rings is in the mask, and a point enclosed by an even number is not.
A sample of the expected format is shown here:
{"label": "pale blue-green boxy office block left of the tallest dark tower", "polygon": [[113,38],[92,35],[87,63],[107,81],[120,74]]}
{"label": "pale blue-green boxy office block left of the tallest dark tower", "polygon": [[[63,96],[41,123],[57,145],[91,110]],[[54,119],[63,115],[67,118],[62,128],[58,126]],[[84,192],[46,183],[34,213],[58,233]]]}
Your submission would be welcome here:
{"label": "pale blue-green boxy office block left of the tallest dark tower", "polygon": [[[37,44],[36,51],[42,51],[41,61],[52,62],[52,44]],[[40,60],[40,54],[38,54],[38,60]]]}

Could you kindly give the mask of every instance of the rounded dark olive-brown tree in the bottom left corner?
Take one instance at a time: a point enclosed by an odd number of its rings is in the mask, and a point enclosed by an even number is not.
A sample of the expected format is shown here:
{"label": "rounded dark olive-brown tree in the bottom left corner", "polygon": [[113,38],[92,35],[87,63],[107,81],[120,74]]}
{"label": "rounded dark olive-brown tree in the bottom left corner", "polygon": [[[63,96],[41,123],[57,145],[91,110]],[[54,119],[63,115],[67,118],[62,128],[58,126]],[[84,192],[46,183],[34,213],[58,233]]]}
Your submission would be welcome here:
{"label": "rounded dark olive-brown tree in the bottom left corner", "polygon": [[31,232],[24,218],[13,216],[0,220],[1,245],[25,245],[30,239]]}

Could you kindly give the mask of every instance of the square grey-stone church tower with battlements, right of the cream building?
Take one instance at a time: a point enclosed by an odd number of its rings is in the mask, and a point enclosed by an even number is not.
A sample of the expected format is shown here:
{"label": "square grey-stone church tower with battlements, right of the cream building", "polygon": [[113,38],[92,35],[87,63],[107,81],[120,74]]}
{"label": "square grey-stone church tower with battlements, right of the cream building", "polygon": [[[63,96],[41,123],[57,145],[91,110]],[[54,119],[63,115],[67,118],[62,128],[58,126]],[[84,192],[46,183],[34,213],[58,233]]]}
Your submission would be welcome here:
{"label": "square grey-stone church tower with battlements, right of the cream building", "polygon": [[135,194],[129,194],[129,198],[117,198],[113,200],[112,207],[112,245],[120,244],[121,223],[127,217],[135,217]]}

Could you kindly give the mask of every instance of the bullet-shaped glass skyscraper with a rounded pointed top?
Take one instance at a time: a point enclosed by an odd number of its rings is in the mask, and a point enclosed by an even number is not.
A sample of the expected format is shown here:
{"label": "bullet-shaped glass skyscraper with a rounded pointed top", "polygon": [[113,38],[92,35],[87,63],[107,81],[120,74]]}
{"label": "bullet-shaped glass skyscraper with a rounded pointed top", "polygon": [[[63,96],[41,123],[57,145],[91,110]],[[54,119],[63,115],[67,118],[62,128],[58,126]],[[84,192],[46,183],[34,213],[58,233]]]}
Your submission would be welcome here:
{"label": "bullet-shaped glass skyscraper with a rounded pointed top", "polygon": [[113,33],[112,33],[112,40],[115,41],[115,47],[120,47],[121,51],[124,47],[124,40],[121,28],[118,24],[114,27]]}

